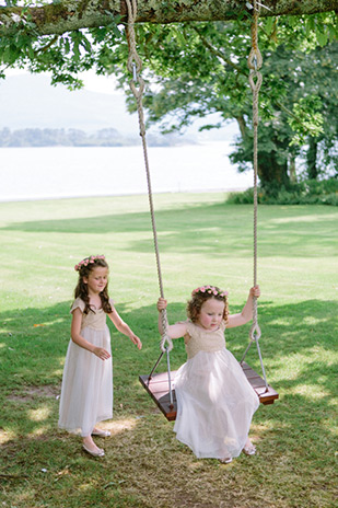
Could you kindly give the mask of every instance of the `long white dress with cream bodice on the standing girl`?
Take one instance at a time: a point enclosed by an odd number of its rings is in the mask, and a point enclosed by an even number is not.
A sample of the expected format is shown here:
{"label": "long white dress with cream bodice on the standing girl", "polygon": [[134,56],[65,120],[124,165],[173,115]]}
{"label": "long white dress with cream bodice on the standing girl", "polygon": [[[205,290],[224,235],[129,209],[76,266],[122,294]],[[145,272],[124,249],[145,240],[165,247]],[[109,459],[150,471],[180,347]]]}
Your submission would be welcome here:
{"label": "long white dress with cream bodice on the standing girl", "polygon": [[[77,298],[70,312],[79,308],[83,313],[84,307],[84,301]],[[110,334],[103,309],[82,314],[81,335],[110,353]],[[63,369],[59,427],[85,437],[91,435],[96,422],[112,417],[112,356],[102,360],[70,339]]]}

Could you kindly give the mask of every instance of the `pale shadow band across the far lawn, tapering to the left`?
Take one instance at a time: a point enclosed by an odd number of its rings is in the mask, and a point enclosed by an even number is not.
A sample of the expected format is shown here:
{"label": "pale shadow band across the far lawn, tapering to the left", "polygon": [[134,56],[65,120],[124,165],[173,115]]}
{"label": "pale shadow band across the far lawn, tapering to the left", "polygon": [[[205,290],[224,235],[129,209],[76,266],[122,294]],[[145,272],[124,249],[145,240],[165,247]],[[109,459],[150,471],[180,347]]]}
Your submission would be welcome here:
{"label": "pale shadow band across the far lawn, tapering to the left", "polygon": [[[282,210],[282,212],[281,212]],[[335,255],[333,235],[337,216],[327,207],[263,207],[259,212],[259,255],[315,257]],[[252,253],[253,211],[249,206],[212,204],[177,206],[155,213],[160,250],[170,252],[212,252],[213,256]],[[148,212],[112,213],[60,220],[38,220],[12,223],[3,231],[48,232],[66,234],[130,234],[129,247],[138,252],[152,249],[151,221]],[[135,233],[149,232],[149,239],[138,240]]]}

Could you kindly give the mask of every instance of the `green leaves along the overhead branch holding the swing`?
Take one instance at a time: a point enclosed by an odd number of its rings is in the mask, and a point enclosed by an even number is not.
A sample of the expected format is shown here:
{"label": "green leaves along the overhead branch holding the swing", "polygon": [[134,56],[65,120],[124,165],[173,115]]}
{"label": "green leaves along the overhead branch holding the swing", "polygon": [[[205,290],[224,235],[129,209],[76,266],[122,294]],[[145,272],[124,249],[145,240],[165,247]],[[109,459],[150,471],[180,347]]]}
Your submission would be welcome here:
{"label": "green leaves along the overhead branch holding the swing", "polygon": [[[32,72],[50,70],[53,82],[63,82],[71,88],[81,85],[77,74],[92,67],[98,72],[112,70],[109,62],[110,54],[121,55],[120,46],[126,43],[124,25],[126,21],[125,3],[117,0],[91,2],[86,0],[4,0],[0,5],[0,62],[2,76],[8,67],[26,67]],[[299,10],[303,12],[317,12],[316,15],[303,18],[288,16],[291,25],[300,24],[304,37],[315,35],[318,44],[324,46],[328,41],[337,37],[338,27],[334,9],[338,11],[338,0],[306,0],[303,2],[293,1],[269,1],[264,2],[268,9],[261,10],[261,15],[280,14],[284,8],[284,13],[294,13]],[[289,7],[288,7],[289,4]],[[247,24],[252,18],[252,11],[247,8],[249,2],[233,2],[224,0],[185,0],[179,3],[167,0],[138,1],[138,9],[149,11],[161,11],[164,22],[170,22],[173,12],[187,11],[196,20],[201,19],[198,9],[208,13],[209,21],[218,20],[222,7],[231,11],[231,16],[243,26],[247,34]],[[236,8],[236,9],[235,9]],[[322,11],[320,11],[322,10]],[[327,12],[327,11],[330,12]],[[145,14],[144,14],[145,16]],[[225,19],[225,14],[223,16]],[[74,26],[70,23],[78,20]],[[178,18],[179,20],[179,18]],[[301,20],[301,21],[300,21]],[[143,21],[143,20],[142,20]],[[176,20],[177,21],[177,20]],[[49,24],[48,24],[49,23]],[[73,22],[74,23],[74,22]],[[273,34],[276,28],[276,18],[267,18],[267,31]],[[48,30],[43,30],[47,24]],[[212,23],[207,25],[211,26]],[[160,30],[165,32],[171,39],[180,38],[185,44],[182,34],[183,25],[156,25],[140,24],[139,42],[147,45],[153,38],[153,32]],[[290,32],[292,35],[292,30]],[[0,74],[1,76],[1,74]]]}

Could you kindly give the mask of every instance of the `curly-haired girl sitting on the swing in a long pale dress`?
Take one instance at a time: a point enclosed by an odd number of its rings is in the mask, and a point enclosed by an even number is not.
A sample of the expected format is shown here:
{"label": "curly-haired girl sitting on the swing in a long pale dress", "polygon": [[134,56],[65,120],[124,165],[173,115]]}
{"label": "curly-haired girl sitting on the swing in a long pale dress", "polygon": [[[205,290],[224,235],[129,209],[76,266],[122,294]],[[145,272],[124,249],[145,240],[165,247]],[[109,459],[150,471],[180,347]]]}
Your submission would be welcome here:
{"label": "curly-haired girl sitting on the swing in a long pale dress", "polygon": [[[188,301],[188,320],[167,326],[171,338],[184,337],[187,361],[175,376],[177,416],[174,431],[197,458],[214,458],[229,463],[243,451],[254,454],[249,426],[259,400],[234,356],[225,348],[224,331],[253,318],[254,297],[249,290],[238,314],[229,314],[228,293],[202,286]],[[160,298],[158,310],[166,308]],[[163,333],[159,315],[159,330]]]}

